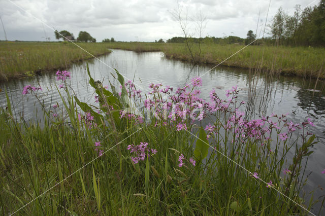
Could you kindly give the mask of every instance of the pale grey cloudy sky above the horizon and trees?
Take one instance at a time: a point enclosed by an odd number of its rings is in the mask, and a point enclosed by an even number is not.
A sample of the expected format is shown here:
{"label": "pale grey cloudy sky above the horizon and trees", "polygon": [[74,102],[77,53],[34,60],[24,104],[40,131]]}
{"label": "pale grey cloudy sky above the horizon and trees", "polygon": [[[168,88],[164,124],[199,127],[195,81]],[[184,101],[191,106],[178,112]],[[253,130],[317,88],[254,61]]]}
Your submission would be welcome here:
{"label": "pale grey cloudy sky above the horizon and trees", "polygon": [[[304,8],[318,3],[271,0],[268,23],[279,7],[291,15],[296,4]],[[248,30],[256,31],[259,11],[258,29],[264,27],[269,0],[0,0],[0,16],[8,40],[45,41],[50,37],[55,41],[54,28],[76,37],[79,31],[87,31],[98,42],[112,37],[116,41],[155,41],[183,35],[172,16],[178,6],[183,18],[187,14],[187,31],[194,37],[198,37],[196,23],[201,13],[206,18],[203,37],[246,38]],[[2,26],[0,40],[5,40]]]}

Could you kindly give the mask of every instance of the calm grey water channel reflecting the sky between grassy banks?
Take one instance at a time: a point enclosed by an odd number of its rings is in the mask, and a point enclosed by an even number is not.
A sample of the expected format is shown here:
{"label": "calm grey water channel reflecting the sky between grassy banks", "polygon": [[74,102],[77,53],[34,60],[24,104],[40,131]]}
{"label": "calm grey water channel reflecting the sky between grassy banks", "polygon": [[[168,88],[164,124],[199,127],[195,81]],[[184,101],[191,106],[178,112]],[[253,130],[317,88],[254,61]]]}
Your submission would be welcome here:
{"label": "calm grey water channel reflecting the sky between grassy banks", "polygon": [[[189,63],[170,60],[160,52],[136,53],[132,51],[113,50],[111,54],[100,59],[113,68],[116,68],[128,79],[134,80],[143,92],[149,90],[150,83],[162,83],[171,87],[183,87],[190,79],[205,74],[212,66],[193,66]],[[88,61],[94,80],[101,80],[109,85],[108,79],[112,79],[114,71],[98,60]],[[86,62],[75,64],[70,68],[71,83],[78,98],[85,102],[93,102],[93,89],[88,84],[88,75],[85,69]],[[239,100],[248,101],[243,109],[250,118],[258,118],[261,115],[285,114],[288,119],[301,123],[307,118],[315,123],[311,132],[317,135],[318,143],[313,147],[314,153],[308,159],[307,172],[312,171],[306,190],[315,190],[318,197],[320,193],[318,185],[325,187],[325,174],[321,171],[325,168],[325,93],[324,81],[317,83],[316,89],[323,90],[313,92],[315,81],[301,78],[277,77],[268,78],[257,76],[252,79],[248,70],[216,67],[203,77],[202,97],[208,99],[209,91],[214,88],[216,93],[225,98],[225,90],[237,85],[240,89]],[[38,111],[41,111],[38,101],[32,96],[23,96],[22,88],[25,85],[43,88],[40,92],[45,106],[50,109],[51,104],[60,101],[55,88],[55,73],[44,74],[40,77],[0,83],[0,89],[10,92],[15,115],[23,116],[25,120],[35,119]],[[57,84],[59,85],[59,84]],[[140,88],[138,87],[138,89]],[[0,105],[6,105],[5,91],[0,92]],[[40,112],[41,113],[41,112]],[[40,115],[40,114],[39,114]]]}

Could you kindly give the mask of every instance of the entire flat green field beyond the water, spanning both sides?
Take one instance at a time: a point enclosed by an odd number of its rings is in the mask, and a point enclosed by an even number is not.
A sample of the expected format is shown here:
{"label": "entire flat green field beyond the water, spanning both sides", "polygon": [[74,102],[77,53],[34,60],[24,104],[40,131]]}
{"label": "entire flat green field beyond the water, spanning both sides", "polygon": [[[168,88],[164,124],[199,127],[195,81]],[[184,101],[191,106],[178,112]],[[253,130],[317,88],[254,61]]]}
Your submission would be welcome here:
{"label": "entire flat green field beyond the water, spanning both sides", "polygon": [[[168,58],[188,62],[241,68],[259,68],[272,73],[325,78],[324,48],[190,44],[192,56],[183,43],[77,43],[94,56],[109,53],[107,48],[136,52],[161,51]],[[244,49],[243,49],[244,48]],[[243,49],[243,50],[241,50]],[[1,42],[0,81],[32,76],[44,71],[68,69],[73,62],[91,58],[66,42]],[[241,51],[240,51],[241,50]],[[239,51],[239,52],[238,52]],[[235,54],[238,52],[237,54]],[[232,56],[235,54],[234,56]],[[229,58],[232,56],[231,58]],[[229,59],[227,59],[229,58]],[[227,59],[227,60],[225,60]],[[225,61],[224,61],[225,60]]]}

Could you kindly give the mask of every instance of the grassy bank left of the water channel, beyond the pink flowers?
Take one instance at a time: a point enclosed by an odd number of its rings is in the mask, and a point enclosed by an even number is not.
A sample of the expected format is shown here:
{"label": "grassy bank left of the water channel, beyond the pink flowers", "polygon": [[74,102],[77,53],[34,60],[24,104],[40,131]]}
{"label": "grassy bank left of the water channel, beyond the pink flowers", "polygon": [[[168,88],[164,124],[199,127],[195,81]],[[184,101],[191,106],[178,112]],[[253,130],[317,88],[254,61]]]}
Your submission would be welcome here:
{"label": "grassy bank left of the water channel, beyond the pink flowers", "polygon": [[[109,53],[103,44],[77,43],[94,56]],[[73,62],[92,58],[71,43],[1,42],[0,81],[67,69]]]}

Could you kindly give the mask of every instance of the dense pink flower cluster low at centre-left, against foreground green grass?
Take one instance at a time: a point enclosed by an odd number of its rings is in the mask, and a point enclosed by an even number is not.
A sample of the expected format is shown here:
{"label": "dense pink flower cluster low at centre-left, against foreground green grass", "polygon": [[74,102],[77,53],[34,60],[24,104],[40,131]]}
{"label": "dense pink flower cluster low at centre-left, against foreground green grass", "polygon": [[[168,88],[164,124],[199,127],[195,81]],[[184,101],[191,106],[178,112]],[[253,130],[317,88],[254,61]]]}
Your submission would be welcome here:
{"label": "dense pink flower cluster low at centre-left, against foreground green grass", "polygon": [[144,161],[146,156],[150,157],[157,153],[155,149],[148,148],[148,142],[140,142],[140,145],[128,145],[127,150],[130,150],[130,153],[136,154],[137,157],[131,157],[133,163],[139,163],[139,161]]}

